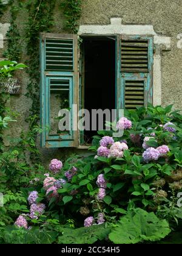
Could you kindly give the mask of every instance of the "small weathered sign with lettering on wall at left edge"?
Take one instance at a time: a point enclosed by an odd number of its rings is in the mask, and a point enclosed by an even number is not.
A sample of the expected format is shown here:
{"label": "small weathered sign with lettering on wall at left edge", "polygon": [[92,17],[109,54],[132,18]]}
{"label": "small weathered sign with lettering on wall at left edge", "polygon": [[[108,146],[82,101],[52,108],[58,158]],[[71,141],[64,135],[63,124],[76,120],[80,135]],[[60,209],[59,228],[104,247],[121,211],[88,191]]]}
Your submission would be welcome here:
{"label": "small weathered sign with lettering on wall at left edge", "polygon": [[20,94],[21,84],[19,79],[12,77],[0,78],[0,93]]}

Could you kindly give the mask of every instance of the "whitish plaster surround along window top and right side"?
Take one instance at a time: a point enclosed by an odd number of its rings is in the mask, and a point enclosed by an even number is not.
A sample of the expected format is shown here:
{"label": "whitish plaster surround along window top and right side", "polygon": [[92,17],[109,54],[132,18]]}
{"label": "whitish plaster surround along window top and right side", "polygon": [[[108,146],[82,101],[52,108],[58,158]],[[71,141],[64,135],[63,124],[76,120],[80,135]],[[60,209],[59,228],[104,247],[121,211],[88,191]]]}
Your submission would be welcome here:
{"label": "whitish plaster surround along window top and right side", "polygon": [[[158,35],[153,25],[124,25],[121,18],[110,18],[108,25],[81,25],[78,35],[153,35],[153,105],[161,105],[161,51],[169,51],[171,38]],[[182,34],[181,34],[182,35]],[[181,46],[182,47],[182,46]]]}

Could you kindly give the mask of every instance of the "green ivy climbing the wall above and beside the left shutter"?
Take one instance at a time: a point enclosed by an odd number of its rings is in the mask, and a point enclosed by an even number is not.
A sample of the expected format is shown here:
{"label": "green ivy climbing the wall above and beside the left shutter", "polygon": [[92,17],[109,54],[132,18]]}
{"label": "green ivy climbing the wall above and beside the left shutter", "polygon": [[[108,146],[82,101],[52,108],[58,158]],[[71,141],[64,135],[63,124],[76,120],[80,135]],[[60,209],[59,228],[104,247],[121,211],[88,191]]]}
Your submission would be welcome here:
{"label": "green ivy climbing the wall above and beside the left shutter", "polygon": [[[32,105],[29,111],[29,135],[33,141],[37,137],[37,124],[39,123],[39,34],[41,32],[51,32],[54,25],[54,10],[56,3],[61,6],[64,16],[66,18],[66,29],[68,32],[76,34],[78,32],[78,20],[81,16],[81,0],[10,0],[10,29],[7,33],[8,49],[5,51],[5,57],[11,60],[19,60],[22,53],[22,39],[26,42],[27,53],[27,73],[29,74],[30,82],[27,85],[26,96],[32,99]],[[25,38],[19,33],[16,19],[20,11],[24,9],[27,11],[27,23],[25,24]],[[0,18],[5,10],[5,5],[0,0]],[[39,152],[36,148],[36,143],[30,145],[30,152],[32,162],[39,162]]]}

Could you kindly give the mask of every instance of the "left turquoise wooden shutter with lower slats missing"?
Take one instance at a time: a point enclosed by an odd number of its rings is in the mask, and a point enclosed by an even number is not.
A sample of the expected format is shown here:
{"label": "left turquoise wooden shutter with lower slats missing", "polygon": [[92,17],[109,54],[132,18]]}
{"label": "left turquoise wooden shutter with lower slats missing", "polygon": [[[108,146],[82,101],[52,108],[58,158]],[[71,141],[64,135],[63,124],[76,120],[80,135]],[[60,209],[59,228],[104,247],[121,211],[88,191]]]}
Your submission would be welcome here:
{"label": "left turquoise wooden shutter with lower slats missing", "polygon": [[[41,34],[41,146],[77,147],[73,129],[78,105],[78,37],[72,34]],[[76,106],[76,105],[75,105]],[[68,129],[61,129],[59,110],[69,113]],[[75,108],[77,112],[77,106]],[[48,127],[48,129],[47,129]]]}

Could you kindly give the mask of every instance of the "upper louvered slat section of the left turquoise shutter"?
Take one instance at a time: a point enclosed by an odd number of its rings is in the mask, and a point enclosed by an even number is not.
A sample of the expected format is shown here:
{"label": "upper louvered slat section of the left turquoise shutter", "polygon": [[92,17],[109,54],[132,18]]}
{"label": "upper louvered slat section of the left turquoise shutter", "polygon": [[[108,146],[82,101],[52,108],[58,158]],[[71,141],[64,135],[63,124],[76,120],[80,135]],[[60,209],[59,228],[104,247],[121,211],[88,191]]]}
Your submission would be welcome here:
{"label": "upper louvered slat section of the left turquoise shutter", "polygon": [[73,70],[73,40],[46,38],[45,68],[55,71]]}

